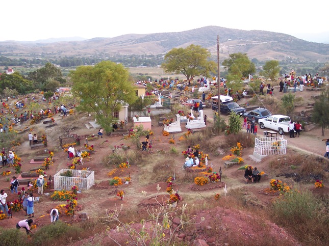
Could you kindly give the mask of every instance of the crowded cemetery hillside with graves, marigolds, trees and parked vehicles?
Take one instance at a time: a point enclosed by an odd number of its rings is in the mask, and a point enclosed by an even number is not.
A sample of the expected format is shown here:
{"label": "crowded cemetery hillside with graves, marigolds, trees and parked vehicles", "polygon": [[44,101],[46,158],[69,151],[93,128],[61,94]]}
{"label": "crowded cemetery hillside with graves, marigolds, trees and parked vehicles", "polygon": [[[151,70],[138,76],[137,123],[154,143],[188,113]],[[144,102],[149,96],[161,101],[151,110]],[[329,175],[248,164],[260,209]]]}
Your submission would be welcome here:
{"label": "crowded cemetery hillside with graves, marigolds, trees and parked vehicles", "polygon": [[328,65],[163,52],[1,67],[0,244],[327,245]]}

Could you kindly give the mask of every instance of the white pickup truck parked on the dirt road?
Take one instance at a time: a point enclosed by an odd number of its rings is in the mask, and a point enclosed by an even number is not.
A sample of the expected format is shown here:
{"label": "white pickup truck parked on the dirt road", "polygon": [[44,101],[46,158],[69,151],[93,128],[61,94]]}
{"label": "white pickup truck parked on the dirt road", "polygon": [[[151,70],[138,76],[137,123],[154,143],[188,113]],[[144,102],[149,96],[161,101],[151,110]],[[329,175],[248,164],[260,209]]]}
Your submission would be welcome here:
{"label": "white pickup truck parked on the dirt road", "polygon": [[284,132],[289,132],[290,117],[285,115],[271,115],[267,118],[259,119],[258,123],[261,129],[269,128],[279,131],[283,135]]}

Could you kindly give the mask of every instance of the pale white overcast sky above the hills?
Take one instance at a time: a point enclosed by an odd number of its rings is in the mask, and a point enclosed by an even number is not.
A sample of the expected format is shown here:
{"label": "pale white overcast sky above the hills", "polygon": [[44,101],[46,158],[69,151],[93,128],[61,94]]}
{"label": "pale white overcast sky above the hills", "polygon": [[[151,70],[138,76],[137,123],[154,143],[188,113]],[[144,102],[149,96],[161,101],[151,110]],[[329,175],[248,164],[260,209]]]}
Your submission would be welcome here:
{"label": "pale white overcast sky above the hills", "polygon": [[0,13],[3,22],[0,41],[112,38],[215,25],[329,43],[327,10],[329,1],[322,0],[16,0]]}

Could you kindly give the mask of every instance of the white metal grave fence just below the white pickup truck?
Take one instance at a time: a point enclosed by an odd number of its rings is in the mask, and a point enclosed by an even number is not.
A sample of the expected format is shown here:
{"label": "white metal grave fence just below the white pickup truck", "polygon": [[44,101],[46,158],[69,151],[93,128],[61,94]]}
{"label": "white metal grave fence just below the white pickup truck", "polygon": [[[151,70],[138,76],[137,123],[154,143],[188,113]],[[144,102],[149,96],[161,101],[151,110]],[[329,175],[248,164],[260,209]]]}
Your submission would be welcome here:
{"label": "white metal grave fence just below the white pickup truck", "polygon": [[259,155],[284,155],[286,150],[287,140],[280,136],[255,139],[255,152]]}

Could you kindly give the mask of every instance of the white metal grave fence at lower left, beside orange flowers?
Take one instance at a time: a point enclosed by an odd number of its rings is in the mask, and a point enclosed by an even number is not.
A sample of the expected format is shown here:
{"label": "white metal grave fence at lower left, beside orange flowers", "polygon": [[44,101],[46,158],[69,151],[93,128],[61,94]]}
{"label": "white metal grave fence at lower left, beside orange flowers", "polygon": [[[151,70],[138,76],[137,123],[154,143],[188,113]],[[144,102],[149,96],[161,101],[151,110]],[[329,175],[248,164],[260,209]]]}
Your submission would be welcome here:
{"label": "white metal grave fence at lower left, beside orange flowers", "polygon": [[[71,171],[73,177],[61,176],[61,173]],[[77,185],[79,189],[90,189],[95,184],[94,171],[62,169],[54,176],[56,190],[71,190],[72,186]]]}

